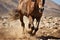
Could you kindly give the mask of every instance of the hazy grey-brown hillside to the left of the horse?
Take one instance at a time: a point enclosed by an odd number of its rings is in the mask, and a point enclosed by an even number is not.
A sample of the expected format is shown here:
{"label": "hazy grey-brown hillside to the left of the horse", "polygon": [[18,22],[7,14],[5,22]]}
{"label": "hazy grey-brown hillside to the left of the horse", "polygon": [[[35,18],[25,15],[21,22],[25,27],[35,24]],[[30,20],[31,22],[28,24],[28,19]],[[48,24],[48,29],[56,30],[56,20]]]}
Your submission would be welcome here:
{"label": "hazy grey-brown hillside to the left of the horse", "polygon": [[10,10],[16,9],[17,4],[18,4],[18,0],[5,0],[5,1],[0,0],[0,14],[5,15]]}

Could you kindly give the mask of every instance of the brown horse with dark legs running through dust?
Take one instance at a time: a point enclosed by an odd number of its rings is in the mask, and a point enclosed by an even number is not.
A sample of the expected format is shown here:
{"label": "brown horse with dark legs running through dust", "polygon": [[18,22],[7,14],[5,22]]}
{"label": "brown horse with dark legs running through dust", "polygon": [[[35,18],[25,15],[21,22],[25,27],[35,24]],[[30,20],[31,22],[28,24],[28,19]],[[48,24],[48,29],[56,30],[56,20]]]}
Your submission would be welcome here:
{"label": "brown horse with dark legs running through dust", "polygon": [[[45,0],[19,0],[17,12],[20,15],[21,25],[23,26],[23,31],[25,29],[25,24],[23,22],[23,16],[29,18],[29,27],[31,31],[30,34],[35,35],[38,31],[39,22],[43,14]],[[37,20],[37,26],[34,26],[34,19]],[[33,32],[34,31],[34,32]]]}

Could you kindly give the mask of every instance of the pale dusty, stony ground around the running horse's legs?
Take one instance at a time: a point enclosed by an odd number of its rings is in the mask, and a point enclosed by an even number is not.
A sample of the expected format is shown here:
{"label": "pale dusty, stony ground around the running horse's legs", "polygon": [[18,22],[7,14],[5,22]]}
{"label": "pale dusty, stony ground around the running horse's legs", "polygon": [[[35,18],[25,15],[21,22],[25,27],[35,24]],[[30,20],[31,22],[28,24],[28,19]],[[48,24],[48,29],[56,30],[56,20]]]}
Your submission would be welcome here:
{"label": "pale dusty, stony ground around the running horse's legs", "polygon": [[0,40],[39,40],[40,38],[60,38],[60,17],[42,16],[39,30],[35,36],[24,35],[19,19],[0,17]]}

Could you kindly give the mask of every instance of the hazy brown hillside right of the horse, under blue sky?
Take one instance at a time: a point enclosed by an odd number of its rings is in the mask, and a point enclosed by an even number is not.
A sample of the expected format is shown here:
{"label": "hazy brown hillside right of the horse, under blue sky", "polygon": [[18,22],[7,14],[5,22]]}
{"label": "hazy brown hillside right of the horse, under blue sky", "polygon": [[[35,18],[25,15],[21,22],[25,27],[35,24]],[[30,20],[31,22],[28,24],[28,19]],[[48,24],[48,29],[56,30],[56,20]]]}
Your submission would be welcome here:
{"label": "hazy brown hillside right of the horse, under blue sky", "polygon": [[44,15],[45,16],[60,16],[60,5],[57,5],[51,0],[46,0]]}

